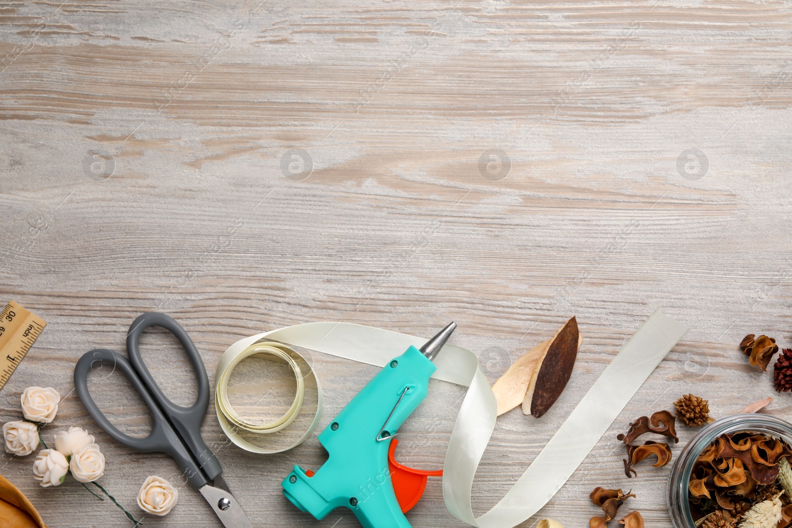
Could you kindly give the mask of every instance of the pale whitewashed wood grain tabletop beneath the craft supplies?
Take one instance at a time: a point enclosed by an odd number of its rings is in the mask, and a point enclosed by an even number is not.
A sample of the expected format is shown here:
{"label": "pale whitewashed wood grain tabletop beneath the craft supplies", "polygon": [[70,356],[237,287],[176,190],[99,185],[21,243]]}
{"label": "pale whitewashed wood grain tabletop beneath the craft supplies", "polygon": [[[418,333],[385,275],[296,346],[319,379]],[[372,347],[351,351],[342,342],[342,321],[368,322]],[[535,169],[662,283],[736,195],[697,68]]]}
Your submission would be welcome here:
{"label": "pale whitewashed wood grain tabletop beneath the craft supplies", "polygon": [[[147,475],[178,482],[177,467],[99,431],[71,376],[84,352],[121,350],[147,310],[184,325],[212,379],[229,344],[265,329],[343,320],[431,336],[453,320],[494,381],[577,316],[562,397],[540,420],[497,420],[479,514],[653,310],[690,326],[526,527],[586,526],[598,485],[633,488],[628,508],[670,526],[669,468],[626,479],[616,435],[682,393],[714,416],[772,393],[737,344],[763,332],[792,346],[788,2],[0,2],[0,24],[2,298],[48,321],[0,420],[20,416],[25,387],[58,389],[45,435],[88,427],[102,482],[132,511]],[[192,401],[175,340],[147,332],[143,346],[174,400]],[[375,369],[313,361],[325,427]],[[102,408],[144,434],[124,379],[95,378]],[[440,467],[462,396],[432,383],[400,458]],[[790,397],[767,412],[792,418]],[[680,427],[675,457],[694,434]],[[204,435],[255,526],[359,526],[346,511],[314,522],[280,495],[291,465],[322,461],[315,438],[247,454],[214,408]],[[40,488],[31,465],[4,455],[0,473],[51,526],[130,526],[74,482]],[[180,490],[145,526],[220,526]],[[463,526],[436,479],[409,519]]]}

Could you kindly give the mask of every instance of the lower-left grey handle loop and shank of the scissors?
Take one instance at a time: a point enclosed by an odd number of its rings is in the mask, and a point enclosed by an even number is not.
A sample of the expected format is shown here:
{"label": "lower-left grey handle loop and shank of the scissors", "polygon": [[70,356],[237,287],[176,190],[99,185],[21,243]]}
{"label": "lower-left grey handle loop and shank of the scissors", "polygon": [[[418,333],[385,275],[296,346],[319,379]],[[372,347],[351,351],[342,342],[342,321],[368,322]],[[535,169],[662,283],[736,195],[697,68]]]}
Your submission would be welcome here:
{"label": "lower-left grey handle loop and shank of the scissors", "polygon": [[[143,398],[151,416],[154,418],[154,424],[147,437],[135,438],[122,433],[110,423],[110,420],[107,419],[105,414],[99,410],[96,402],[93,401],[93,397],[91,397],[88,390],[88,373],[92,369],[106,368],[102,367],[102,365],[112,367],[110,369],[111,372],[116,369],[121,370],[131,384],[135,386],[135,390],[138,391],[140,397]],[[207,477],[200,470],[192,456],[190,456],[185,444],[178,438],[176,431],[173,430],[173,427],[170,426],[168,420],[160,411],[157,402],[152,399],[138,374],[135,373],[135,370],[123,355],[104,348],[86,352],[78,360],[77,365],[74,366],[74,388],[77,389],[82,405],[85,406],[93,420],[96,420],[99,427],[104,429],[113,439],[140,453],[167,453],[176,460],[182,473],[193,488],[197,489],[208,484]]]}

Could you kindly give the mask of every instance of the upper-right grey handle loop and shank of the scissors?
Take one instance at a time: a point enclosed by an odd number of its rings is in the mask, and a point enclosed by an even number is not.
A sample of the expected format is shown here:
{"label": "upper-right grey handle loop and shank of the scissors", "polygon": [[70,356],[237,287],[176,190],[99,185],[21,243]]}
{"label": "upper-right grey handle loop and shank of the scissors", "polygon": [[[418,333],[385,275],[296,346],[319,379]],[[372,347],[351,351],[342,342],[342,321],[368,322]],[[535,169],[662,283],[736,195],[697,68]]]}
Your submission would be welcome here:
{"label": "upper-right grey handle loop and shank of the scissors", "polygon": [[[176,405],[173,401],[170,401],[162,393],[154,378],[151,377],[146,363],[143,363],[143,357],[140,355],[138,346],[140,335],[151,326],[159,326],[171,332],[179,340],[185,352],[187,352],[187,357],[192,363],[192,368],[195,370],[196,378],[198,379],[198,397],[195,403],[189,407],[181,407],[181,405]],[[135,367],[135,371],[141,381],[143,381],[143,385],[148,389],[151,397],[154,397],[162,412],[165,413],[170,423],[181,435],[181,439],[185,441],[188,450],[196,458],[209,480],[214,481],[220,473],[223,473],[223,468],[220,467],[220,462],[215,458],[215,454],[209,450],[200,435],[200,426],[204,423],[204,416],[206,416],[206,411],[209,407],[209,376],[206,373],[206,367],[204,367],[204,360],[201,359],[198,349],[192,343],[190,336],[187,335],[185,329],[181,328],[181,325],[173,317],[165,313],[143,313],[129,326],[127,353],[129,354],[129,362],[132,367]]]}

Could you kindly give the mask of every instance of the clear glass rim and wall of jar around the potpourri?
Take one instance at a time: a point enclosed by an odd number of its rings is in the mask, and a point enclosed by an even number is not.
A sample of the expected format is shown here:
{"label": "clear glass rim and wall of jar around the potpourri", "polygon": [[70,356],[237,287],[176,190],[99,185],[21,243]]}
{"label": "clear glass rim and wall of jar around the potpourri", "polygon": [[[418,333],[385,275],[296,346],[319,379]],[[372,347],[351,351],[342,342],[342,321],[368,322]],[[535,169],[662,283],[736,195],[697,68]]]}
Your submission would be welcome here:
{"label": "clear glass rim and wall of jar around the potpourri", "polygon": [[695,528],[687,500],[687,485],[690,484],[691,471],[699,453],[718,436],[737,431],[756,431],[775,436],[792,446],[792,424],[766,414],[735,414],[704,427],[676,458],[671,476],[668,477],[668,513],[674,528]]}

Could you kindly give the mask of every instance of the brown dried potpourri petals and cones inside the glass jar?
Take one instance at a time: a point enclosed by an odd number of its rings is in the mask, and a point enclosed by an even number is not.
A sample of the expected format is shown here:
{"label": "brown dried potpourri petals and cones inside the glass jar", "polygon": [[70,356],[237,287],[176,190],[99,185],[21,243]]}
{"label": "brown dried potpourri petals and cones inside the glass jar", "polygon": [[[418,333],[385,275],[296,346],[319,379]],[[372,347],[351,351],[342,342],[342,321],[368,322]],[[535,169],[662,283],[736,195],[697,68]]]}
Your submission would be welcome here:
{"label": "brown dried potpourri petals and cones inside the glass jar", "polygon": [[[721,435],[697,458],[688,501],[701,528],[776,528],[792,505],[792,447],[756,431]],[[792,512],[792,508],[786,511]]]}

